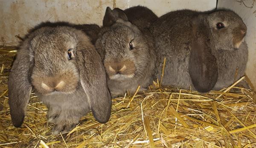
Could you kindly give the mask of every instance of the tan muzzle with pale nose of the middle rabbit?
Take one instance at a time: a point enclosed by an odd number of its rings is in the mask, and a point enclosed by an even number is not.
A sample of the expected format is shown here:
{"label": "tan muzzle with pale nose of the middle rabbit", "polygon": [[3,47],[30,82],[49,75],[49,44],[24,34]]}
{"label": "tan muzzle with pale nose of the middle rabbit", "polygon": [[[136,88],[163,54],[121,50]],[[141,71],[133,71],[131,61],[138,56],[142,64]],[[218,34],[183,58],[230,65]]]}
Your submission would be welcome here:
{"label": "tan muzzle with pale nose of the middle rabbit", "polygon": [[104,65],[110,79],[133,78],[136,70],[134,62],[130,60],[105,62]]}

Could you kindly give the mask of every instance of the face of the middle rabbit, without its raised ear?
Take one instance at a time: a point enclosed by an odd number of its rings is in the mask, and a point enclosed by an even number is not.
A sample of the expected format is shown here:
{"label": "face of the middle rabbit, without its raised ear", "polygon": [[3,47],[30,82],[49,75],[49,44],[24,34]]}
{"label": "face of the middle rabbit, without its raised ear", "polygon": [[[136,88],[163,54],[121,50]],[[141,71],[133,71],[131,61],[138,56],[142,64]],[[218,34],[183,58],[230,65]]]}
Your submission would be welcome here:
{"label": "face of the middle rabbit, without its raised ear", "polygon": [[112,80],[141,75],[150,60],[147,42],[140,30],[129,22],[118,22],[102,37],[104,66]]}

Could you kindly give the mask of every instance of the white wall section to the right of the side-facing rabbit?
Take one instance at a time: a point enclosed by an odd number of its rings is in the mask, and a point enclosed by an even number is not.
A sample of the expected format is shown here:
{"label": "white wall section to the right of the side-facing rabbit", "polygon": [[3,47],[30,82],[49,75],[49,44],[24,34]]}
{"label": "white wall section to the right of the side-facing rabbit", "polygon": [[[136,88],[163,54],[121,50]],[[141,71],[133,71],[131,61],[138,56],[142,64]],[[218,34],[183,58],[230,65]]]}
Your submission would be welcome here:
{"label": "white wall section to the right of the side-facing rabbit", "polygon": [[256,0],[219,0],[218,8],[233,10],[247,26],[245,41],[249,56],[245,73],[256,87]]}

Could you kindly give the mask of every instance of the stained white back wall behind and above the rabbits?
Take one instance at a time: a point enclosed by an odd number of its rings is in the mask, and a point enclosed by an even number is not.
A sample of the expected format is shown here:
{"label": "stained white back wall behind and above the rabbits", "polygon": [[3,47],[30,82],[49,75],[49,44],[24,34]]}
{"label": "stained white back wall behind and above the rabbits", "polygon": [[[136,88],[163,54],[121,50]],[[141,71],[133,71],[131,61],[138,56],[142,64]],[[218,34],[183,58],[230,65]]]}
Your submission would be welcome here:
{"label": "stained white back wall behind and above the rabbits", "polygon": [[215,9],[216,0],[0,0],[0,45],[17,45],[28,29],[43,21],[102,25],[107,6],[147,6],[158,16],[177,9]]}

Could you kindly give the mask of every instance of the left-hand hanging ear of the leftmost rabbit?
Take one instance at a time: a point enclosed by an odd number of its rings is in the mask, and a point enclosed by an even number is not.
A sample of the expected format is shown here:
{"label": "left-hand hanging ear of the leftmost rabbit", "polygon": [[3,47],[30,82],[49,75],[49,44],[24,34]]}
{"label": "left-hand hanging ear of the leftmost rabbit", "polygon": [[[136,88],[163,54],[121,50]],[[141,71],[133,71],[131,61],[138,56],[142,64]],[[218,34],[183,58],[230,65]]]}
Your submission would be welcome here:
{"label": "left-hand hanging ear of the leftmost rabbit", "polygon": [[27,104],[32,91],[30,70],[32,61],[29,57],[29,41],[25,40],[17,52],[9,74],[8,92],[12,122],[15,127],[23,123]]}

